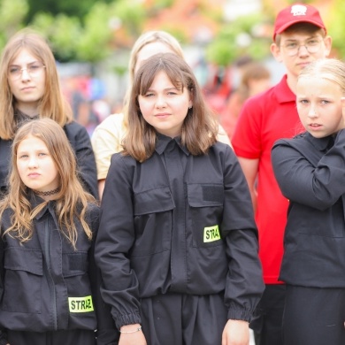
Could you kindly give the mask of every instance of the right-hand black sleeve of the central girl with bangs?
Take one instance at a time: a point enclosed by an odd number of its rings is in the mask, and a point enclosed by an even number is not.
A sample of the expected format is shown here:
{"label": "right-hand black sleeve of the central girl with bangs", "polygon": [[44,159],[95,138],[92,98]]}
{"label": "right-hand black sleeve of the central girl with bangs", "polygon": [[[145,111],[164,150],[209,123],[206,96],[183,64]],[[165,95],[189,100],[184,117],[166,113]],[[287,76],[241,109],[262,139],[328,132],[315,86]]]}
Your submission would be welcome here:
{"label": "right-hand black sleeve of the central girl with bangs", "polygon": [[265,289],[258,257],[257,226],[248,184],[234,152],[225,162],[222,232],[226,236],[228,273],[225,303],[228,318],[250,321]]}

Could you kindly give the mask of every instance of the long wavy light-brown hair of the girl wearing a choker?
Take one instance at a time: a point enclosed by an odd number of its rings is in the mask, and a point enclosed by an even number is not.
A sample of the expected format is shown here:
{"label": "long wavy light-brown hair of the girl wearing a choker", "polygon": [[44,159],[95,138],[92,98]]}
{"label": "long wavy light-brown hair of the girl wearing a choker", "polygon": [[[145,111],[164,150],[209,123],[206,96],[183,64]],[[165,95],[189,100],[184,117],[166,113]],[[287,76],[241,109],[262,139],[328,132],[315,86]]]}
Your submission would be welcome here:
{"label": "long wavy light-brown hair of the girl wearing a choker", "polygon": [[30,189],[20,179],[17,167],[19,143],[33,135],[47,145],[58,170],[60,191],[56,199],[56,214],[60,230],[75,249],[78,232],[76,219],[81,223],[85,234],[91,239],[92,232],[86,221],[88,203],[96,203],[93,196],[85,192],[77,177],[76,159],[64,130],[52,119],[28,121],[17,131],[12,143],[12,164],[9,175],[9,191],[0,203],[0,219],[5,209],[12,209],[12,226],[4,234],[18,238],[20,242],[29,241],[34,233],[33,219],[49,203],[40,203],[35,209],[30,204]]}

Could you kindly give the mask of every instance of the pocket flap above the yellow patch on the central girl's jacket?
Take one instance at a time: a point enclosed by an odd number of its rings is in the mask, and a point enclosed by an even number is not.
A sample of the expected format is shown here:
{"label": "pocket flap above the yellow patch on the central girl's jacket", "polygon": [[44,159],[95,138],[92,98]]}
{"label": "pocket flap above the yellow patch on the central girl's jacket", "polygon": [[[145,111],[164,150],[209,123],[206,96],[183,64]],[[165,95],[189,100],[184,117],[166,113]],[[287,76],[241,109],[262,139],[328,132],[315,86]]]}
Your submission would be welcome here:
{"label": "pocket flap above the yellow patch on the central girl's jacket", "polygon": [[188,203],[192,207],[222,206],[224,187],[221,183],[189,183]]}

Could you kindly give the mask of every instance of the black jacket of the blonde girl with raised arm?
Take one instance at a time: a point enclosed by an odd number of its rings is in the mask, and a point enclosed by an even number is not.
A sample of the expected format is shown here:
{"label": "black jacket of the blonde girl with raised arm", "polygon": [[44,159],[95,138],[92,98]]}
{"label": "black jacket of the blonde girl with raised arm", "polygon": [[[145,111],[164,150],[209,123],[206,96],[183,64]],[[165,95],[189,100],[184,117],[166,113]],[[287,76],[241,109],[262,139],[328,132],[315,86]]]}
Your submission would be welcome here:
{"label": "black jacket of the blonde girl with raised arm", "polygon": [[345,288],[345,131],[301,134],[272,148],[272,165],[289,201],[280,280]]}

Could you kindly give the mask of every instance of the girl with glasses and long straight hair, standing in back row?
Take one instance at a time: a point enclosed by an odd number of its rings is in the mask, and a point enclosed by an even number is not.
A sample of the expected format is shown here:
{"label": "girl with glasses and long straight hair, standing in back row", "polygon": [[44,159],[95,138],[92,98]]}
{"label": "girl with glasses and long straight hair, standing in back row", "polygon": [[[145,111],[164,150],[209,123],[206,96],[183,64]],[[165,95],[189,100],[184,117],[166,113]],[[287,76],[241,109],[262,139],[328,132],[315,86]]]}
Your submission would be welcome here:
{"label": "girl with glasses and long straight hair, standing in back row", "polygon": [[50,46],[42,35],[23,29],[6,43],[0,59],[0,199],[7,189],[13,137],[22,123],[38,118],[54,119],[64,128],[82,185],[98,197],[90,138],[85,127],[73,120]]}

